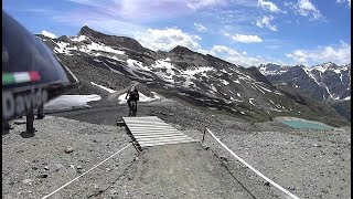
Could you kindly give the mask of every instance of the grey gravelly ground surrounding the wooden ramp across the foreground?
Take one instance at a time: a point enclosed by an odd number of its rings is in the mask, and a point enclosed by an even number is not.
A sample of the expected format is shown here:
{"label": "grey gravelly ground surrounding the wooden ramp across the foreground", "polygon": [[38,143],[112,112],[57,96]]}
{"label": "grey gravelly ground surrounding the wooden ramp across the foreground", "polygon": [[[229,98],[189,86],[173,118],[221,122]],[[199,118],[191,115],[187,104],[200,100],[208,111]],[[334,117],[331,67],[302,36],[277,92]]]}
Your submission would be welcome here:
{"label": "grey gravelly ground surrounding the wooden ramp across the foreground", "polygon": [[[126,104],[90,105],[35,121],[33,137],[23,133],[21,119],[11,122],[14,129],[2,135],[2,198],[44,197],[129,144],[125,127],[116,125],[127,114]],[[139,103],[138,116],[145,115],[156,115],[199,140],[207,126],[244,160],[299,198],[351,197],[350,127],[296,130],[277,121],[249,123],[164,97]],[[204,144],[156,146],[139,156],[130,146],[52,196],[200,197],[286,198],[210,135]]]}

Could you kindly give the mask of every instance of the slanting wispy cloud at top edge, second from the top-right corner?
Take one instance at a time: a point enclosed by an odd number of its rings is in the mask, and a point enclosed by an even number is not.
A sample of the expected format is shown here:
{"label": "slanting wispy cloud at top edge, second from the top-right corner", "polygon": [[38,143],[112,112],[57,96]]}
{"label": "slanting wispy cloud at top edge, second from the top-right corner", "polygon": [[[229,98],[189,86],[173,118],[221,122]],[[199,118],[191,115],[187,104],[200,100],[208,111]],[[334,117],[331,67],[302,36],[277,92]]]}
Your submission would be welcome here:
{"label": "slanting wispy cloud at top edge, second from the top-right corner", "polygon": [[285,6],[290,7],[297,14],[300,14],[303,17],[312,15],[313,20],[319,20],[323,18],[320,10],[317,7],[314,7],[310,2],[310,0],[298,0],[297,3],[285,2]]}

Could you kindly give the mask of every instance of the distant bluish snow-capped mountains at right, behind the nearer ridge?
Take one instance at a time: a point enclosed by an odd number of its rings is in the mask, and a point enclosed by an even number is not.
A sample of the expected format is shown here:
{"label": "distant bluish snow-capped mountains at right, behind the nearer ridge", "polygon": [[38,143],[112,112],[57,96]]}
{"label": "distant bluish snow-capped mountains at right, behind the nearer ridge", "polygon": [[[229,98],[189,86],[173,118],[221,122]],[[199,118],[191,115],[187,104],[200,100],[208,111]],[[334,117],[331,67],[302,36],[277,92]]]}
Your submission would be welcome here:
{"label": "distant bluish snow-capped mountains at right, behind the nearer ridge", "polygon": [[351,119],[351,107],[346,106],[351,104],[351,64],[339,66],[328,62],[312,67],[261,64],[258,70],[272,84],[287,84],[298,93],[328,102],[341,115]]}

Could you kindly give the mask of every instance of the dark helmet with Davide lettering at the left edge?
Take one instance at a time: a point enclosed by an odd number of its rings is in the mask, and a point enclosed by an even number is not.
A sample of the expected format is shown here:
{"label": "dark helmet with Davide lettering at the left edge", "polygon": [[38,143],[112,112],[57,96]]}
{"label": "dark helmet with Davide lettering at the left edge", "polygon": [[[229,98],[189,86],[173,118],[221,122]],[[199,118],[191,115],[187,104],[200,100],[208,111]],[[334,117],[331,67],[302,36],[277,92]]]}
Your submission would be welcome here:
{"label": "dark helmet with Davide lettering at the left edge", "polygon": [[2,11],[2,121],[25,115],[77,86],[58,57]]}

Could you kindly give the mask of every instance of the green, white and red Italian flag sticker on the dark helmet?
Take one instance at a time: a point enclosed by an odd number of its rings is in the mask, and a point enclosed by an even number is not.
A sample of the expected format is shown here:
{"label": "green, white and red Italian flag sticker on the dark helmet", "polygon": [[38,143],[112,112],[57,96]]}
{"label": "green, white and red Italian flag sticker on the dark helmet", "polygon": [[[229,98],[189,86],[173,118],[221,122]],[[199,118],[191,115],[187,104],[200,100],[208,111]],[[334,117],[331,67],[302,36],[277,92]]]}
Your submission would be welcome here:
{"label": "green, white and red Italian flag sticker on the dark helmet", "polygon": [[38,82],[41,76],[38,71],[2,73],[2,85]]}

